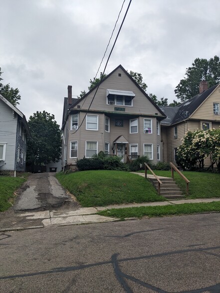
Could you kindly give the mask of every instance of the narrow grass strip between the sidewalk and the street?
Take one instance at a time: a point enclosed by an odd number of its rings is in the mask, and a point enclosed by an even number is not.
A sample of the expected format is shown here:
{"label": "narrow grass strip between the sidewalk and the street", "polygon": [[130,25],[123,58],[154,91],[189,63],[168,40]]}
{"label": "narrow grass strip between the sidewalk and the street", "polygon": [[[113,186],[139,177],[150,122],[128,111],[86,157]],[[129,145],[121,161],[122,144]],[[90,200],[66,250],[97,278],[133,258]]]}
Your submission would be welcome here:
{"label": "narrow grass strip between the sidewalk and the street", "polygon": [[142,218],[148,217],[163,217],[171,215],[188,215],[202,212],[220,212],[220,201],[209,203],[183,203],[166,206],[142,206],[133,208],[110,209],[98,212],[102,216],[114,218]]}

